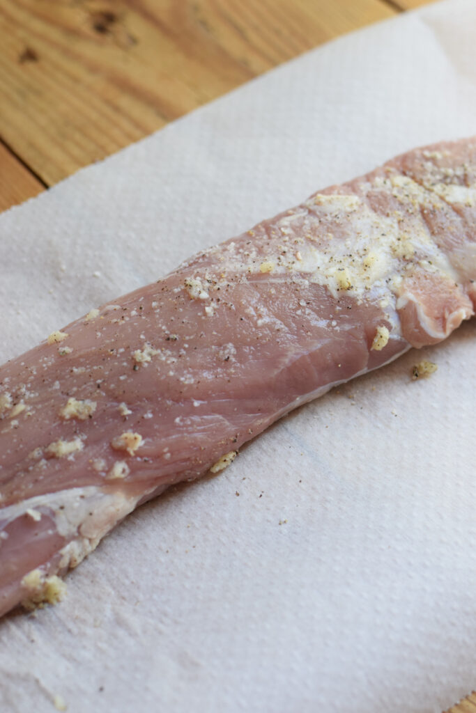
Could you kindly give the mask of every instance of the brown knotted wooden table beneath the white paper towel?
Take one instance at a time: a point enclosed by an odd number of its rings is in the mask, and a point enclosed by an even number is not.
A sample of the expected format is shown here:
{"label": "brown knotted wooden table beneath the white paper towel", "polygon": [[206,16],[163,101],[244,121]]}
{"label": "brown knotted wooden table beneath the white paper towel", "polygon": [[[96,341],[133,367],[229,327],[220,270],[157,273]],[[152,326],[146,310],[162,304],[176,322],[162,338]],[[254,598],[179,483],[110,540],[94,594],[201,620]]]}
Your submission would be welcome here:
{"label": "brown knotted wooden table beneath the white paper towel", "polygon": [[[429,0],[1,0],[0,210],[301,52]],[[451,713],[476,713],[476,694]]]}

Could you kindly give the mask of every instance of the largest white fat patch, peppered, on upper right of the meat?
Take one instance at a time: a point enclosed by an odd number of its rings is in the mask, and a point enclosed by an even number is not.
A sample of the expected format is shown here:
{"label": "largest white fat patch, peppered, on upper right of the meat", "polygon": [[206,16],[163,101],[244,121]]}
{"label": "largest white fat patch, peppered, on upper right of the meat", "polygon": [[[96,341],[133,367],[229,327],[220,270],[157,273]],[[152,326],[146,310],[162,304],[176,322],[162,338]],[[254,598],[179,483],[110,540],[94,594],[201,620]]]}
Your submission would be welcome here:
{"label": "largest white fat patch, peppered, on upper right of the meat", "polygon": [[[285,227],[286,238],[292,245],[299,242],[300,260],[295,261],[295,250],[285,250],[279,239],[270,242],[268,252],[255,252],[253,246],[246,253],[236,250],[234,244],[228,246],[228,270],[236,274],[256,272],[257,265],[273,265],[272,275],[295,276],[327,287],[335,299],[349,294],[356,299],[387,299],[395,309],[395,292],[401,282],[405,266],[414,260],[425,262],[425,270],[441,272],[457,280],[457,273],[450,260],[432,240],[420,214],[420,207],[442,205],[440,198],[418,183],[402,175],[375,179],[373,187],[392,194],[405,207],[415,208],[415,212],[405,213],[406,232],[403,232],[398,216],[378,215],[358,195],[316,194],[305,202],[309,210],[299,207],[293,215],[285,215],[271,226],[271,233]],[[316,215],[317,211],[317,215]],[[342,225],[343,230],[351,228],[347,239],[335,237],[332,232],[324,237],[317,229],[318,217],[330,217]],[[293,226],[300,219],[302,225]],[[295,232],[293,232],[295,230]],[[317,232],[317,237],[316,237]],[[303,239],[303,236],[305,239]],[[413,256],[416,254],[416,258]],[[259,261],[259,262],[258,262]],[[396,326],[396,325],[395,325]]]}

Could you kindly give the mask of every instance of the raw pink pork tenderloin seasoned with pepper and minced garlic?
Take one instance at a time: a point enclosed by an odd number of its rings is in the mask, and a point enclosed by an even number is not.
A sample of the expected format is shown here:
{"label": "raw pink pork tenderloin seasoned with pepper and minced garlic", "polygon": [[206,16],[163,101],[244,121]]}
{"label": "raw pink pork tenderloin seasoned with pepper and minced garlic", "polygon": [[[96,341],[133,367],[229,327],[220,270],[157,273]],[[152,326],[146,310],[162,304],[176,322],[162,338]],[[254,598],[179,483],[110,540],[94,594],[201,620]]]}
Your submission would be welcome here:
{"label": "raw pink pork tenderloin seasoned with pepper and minced garlic", "polygon": [[0,615],[136,506],[476,300],[476,138],[402,155],[103,305],[0,369]]}

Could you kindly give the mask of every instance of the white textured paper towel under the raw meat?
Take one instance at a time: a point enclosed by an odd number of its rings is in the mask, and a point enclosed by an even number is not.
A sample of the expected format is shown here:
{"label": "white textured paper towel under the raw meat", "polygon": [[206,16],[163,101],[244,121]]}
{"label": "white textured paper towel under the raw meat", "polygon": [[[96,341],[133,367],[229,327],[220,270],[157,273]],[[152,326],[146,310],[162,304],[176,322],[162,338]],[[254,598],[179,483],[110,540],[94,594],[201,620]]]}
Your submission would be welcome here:
{"label": "white textured paper towel under the raw meat", "polygon": [[[271,71],[0,216],[3,361],[308,194],[475,133],[476,5]],[[300,409],[0,622],[1,712],[439,712],[476,684],[476,325]],[[438,364],[410,381],[415,360]]]}

